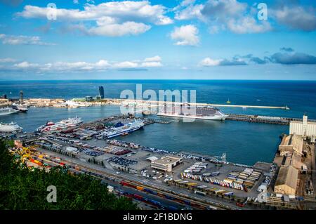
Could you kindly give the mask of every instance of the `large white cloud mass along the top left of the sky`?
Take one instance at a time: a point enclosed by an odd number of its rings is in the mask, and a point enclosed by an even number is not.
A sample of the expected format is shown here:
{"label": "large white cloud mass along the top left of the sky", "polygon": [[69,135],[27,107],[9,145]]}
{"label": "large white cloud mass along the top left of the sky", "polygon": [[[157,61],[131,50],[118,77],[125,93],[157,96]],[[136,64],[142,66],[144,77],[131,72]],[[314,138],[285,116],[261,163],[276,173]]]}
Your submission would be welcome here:
{"label": "large white cloud mass along the top left of the sky", "polygon": [[[27,5],[17,13],[23,18],[46,19],[49,8]],[[141,34],[150,29],[148,23],[169,25],[173,20],[162,5],[151,5],[149,1],[111,1],[98,5],[86,4],[84,10],[57,8],[57,21],[94,21],[96,26],[85,25],[79,30],[88,34],[119,37],[126,34]]]}

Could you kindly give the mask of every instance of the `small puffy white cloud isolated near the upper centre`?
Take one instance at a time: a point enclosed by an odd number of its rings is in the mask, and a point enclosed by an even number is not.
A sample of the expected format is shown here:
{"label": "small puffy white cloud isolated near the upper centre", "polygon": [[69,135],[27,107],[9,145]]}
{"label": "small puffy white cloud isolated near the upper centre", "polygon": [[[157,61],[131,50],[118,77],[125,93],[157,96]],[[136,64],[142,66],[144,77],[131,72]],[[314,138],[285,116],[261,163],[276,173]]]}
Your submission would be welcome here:
{"label": "small puffy white cloud isolated near the upper centre", "polygon": [[176,40],[176,45],[197,46],[199,44],[199,37],[197,34],[199,30],[194,25],[183,25],[176,27],[171,32],[171,39]]}

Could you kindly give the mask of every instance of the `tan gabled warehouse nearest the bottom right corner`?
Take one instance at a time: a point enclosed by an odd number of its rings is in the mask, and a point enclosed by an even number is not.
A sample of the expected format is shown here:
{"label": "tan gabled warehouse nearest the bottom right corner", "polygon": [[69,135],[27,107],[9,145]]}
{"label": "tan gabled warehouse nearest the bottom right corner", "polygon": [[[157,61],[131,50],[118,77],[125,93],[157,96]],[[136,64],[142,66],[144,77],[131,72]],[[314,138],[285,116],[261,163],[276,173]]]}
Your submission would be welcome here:
{"label": "tan gabled warehouse nearest the bottom right corner", "polygon": [[275,192],[284,195],[295,195],[298,170],[293,166],[282,166],[275,182]]}

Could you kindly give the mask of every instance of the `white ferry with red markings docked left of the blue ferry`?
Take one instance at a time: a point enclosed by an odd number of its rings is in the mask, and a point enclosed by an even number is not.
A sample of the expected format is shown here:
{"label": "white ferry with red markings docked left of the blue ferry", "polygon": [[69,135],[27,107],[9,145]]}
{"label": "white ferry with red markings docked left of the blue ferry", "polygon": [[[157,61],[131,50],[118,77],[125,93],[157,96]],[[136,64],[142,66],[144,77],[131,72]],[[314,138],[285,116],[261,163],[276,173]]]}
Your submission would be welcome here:
{"label": "white ferry with red markings docked left of the blue ferry", "polygon": [[39,132],[48,132],[48,131],[62,131],[64,129],[70,129],[76,127],[78,124],[81,124],[83,121],[79,117],[69,118],[61,120],[57,123],[53,121],[48,121],[45,125],[40,126],[37,131]]}

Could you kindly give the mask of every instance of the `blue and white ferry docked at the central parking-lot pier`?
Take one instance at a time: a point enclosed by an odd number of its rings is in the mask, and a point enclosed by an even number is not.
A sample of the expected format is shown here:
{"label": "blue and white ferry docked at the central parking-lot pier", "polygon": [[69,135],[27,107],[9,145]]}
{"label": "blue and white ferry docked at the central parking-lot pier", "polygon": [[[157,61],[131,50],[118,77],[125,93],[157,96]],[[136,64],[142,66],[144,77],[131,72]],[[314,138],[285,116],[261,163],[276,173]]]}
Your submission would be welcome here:
{"label": "blue and white ferry docked at the central parking-lot pier", "polygon": [[109,131],[105,131],[105,133],[103,133],[103,136],[107,138],[114,138],[116,136],[122,135],[124,136],[127,133],[143,128],[144,125],[145,124],[143,123],[143,121],[134,121],[128,124],[118,123],[114,126],[114,128],[110,129]]}

